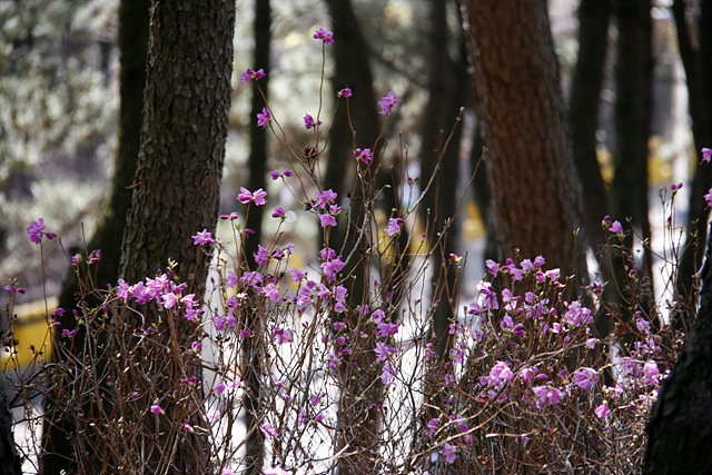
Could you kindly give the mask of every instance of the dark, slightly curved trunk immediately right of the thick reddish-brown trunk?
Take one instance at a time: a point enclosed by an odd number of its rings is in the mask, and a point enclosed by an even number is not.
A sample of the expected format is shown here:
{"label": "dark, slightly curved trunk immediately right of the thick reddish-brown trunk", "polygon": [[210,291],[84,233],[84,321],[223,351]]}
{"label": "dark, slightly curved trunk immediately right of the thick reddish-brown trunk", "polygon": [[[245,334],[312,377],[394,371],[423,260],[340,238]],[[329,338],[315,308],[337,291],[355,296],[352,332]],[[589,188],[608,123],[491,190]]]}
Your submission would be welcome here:
{"label": "dark, slightly curved trunk immediately right of the thick reddish-brown trunk", "polygon": [[578,7],[578,60],[568,101],[574,162],[583,186],[584,230],[594,251],[605,244],[601,219],[611,212],[596,158],[596,129],[610,17],[611,0],[582,0]]}

